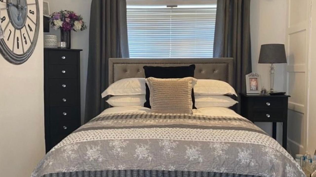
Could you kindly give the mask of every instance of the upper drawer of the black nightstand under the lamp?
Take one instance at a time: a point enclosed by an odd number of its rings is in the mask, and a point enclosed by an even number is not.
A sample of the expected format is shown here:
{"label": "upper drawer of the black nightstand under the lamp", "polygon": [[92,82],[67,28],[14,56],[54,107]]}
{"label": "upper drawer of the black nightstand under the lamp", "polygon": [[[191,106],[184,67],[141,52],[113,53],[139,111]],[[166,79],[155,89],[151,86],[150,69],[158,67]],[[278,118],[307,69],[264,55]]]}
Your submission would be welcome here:
{"label": "upper drawer of the black nightstand under the lamp", "polygon": [[[286,98],[287,99],[287,98]],[[283,108],[284,98],[252,98],[253,108]]]}

